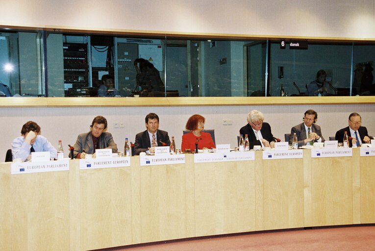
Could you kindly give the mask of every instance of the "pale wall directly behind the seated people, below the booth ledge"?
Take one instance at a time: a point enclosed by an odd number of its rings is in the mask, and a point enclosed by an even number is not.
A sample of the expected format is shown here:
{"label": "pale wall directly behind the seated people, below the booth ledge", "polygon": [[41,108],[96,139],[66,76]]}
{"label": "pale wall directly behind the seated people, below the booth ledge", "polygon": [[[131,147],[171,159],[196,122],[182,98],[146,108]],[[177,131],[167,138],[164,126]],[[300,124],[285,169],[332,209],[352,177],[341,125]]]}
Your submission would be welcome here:
{"label": "pale wall directly behind the seated people, below the booth ledge", "polygon": [[[318,112],[317,125],[322,127],[325,139],[336,131],[348,126],[348,116],[358,112],[363,126],[375,136],[375,104],[348,105],[263,105],[263,106],[182,106],[182,107],[51,107],[51,108],[0,108],[2,132],[0,141],[0,161],[11,147],[14,138],[20,136],[21,127],[32,120],[42,128],[42,135],[57,147],[62,140],[64,154],[68,156],[68,144],[73,145],[79,133],[89,131],[93,118],[104,116],[108,121],[108,131],[112,133],[119,149],[124,147],[125,137],[134,142],[135,134],[146,129],[145,116],[155,112],[160,118],[160,129],[175,136],[176,146],[181,146],[182,130],[187,119],[196,113],[206,118],[205,128],[215,129],[217,144],[237,145],[239,129],[245,126],[247,113],[257,109],[264,113],[264,120],[272,127],[275,137],[284,139],[292,126],[302,123],[307,109]],[[231,119],[232,125],[223,125],[224,119]],[[124,123],[124,128],[114,128],[114,122]]]}

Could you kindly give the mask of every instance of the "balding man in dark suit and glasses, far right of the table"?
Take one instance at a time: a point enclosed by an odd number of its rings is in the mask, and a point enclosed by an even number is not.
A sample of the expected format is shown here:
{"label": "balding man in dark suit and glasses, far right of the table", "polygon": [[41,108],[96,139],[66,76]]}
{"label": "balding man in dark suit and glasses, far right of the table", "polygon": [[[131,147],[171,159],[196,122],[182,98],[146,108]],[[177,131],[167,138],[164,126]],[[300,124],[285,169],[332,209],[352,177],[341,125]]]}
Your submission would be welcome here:
{"label": "balding man in dark suit and glasses, far right of the table", "polygon": [[336,132],[335,138],[339,143],[343,143],[345,132],[348,133],[348,137],[352,138],[349,140],[349,147],[353,145],[359,147],[363,143],[370,143],[369,134],[367,133],[366,127],[361,126],[362,119],[358,113],[353,112],[349,115],[348,124],[348,127],[342,128]]}

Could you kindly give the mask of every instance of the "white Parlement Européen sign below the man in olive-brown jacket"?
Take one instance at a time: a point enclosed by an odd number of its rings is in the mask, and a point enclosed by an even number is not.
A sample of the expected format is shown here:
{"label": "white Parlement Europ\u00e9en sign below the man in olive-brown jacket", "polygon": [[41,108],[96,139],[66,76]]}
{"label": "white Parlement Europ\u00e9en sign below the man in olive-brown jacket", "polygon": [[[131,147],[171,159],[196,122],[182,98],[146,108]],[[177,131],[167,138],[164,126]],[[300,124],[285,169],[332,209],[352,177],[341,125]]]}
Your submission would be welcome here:
{"label": "white Parlement Europ\u00e9en sign below the man in olive-brown jacket", "polygon": [[129,167],[130,157],[116,157],[116,158],[95,158],[95,159],[80,159],[79,169],[98,169],[98,168],[112,168],[112,167]]}

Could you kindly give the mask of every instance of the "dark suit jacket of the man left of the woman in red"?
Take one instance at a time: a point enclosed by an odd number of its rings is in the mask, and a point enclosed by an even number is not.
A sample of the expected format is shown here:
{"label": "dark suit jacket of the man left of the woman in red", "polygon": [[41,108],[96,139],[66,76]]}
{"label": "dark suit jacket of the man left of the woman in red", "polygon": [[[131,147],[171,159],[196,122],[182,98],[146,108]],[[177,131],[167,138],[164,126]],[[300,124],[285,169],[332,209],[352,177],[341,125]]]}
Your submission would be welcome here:
{"label": "dark suit jacket of the man left of the woman in red", "polygon": [[[157,146],[162,147],[163,144],[160,143],[163,142],[167,144],[167,146],[171,145],[171,141],[169,140],[168,132],[163,130],[156,130],[156,140],[157,140]],[[150,144],[150,135],[149,132],[143,131],[135,135],[135,142],[134,142],[134,155],[139,155],[142,151],[147,151],[151,147]]]}

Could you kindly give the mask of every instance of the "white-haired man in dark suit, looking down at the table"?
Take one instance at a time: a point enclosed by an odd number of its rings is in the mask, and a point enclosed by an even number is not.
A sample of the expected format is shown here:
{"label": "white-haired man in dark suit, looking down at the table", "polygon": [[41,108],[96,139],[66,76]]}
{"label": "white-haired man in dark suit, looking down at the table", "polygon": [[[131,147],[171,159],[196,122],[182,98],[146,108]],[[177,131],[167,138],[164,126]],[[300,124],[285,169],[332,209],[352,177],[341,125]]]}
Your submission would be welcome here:
{"label": "white-haired man in dark suit, looking down at the table", "polygon": [[263,122],[263,113],[257,110],[252,110],[248,114],[248,124],[240,129],[240,134],[248,134],[250,149],[254,146],[271,147],[275,148],[276,139],[271,132],[270,124]]}

